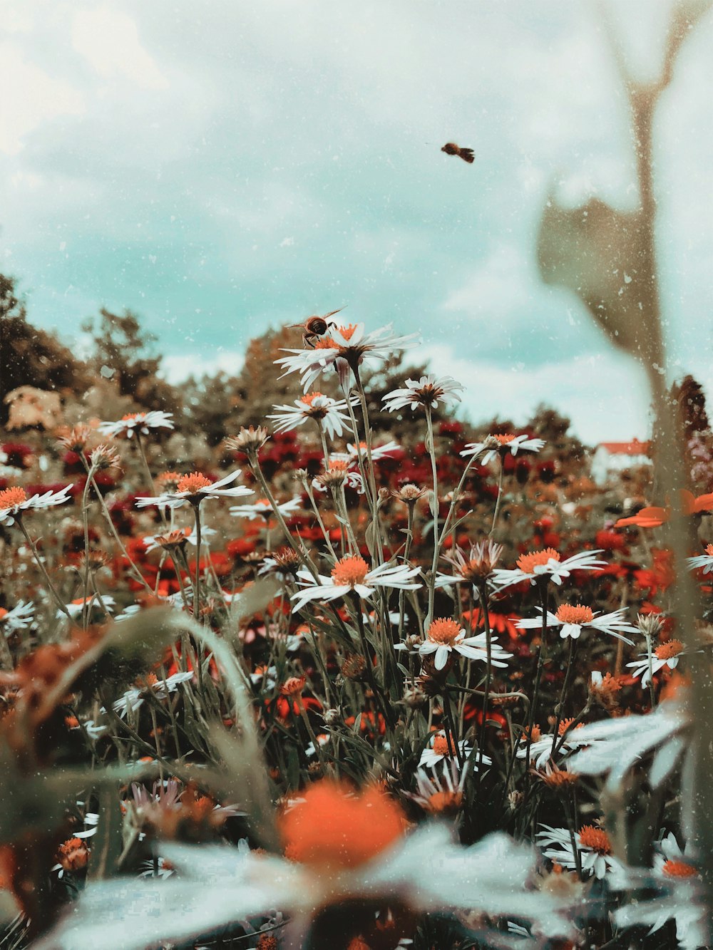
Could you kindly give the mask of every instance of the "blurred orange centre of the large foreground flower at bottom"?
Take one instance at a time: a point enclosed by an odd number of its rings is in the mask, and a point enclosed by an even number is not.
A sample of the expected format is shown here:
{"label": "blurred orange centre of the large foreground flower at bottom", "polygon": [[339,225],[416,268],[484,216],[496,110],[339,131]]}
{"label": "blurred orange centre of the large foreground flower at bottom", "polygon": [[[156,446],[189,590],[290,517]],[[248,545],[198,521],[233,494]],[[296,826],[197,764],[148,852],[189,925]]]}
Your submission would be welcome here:
{"label": "blurred orange centre of the large foreground flower at bottom", "polygon": [[355,795],[348,786],[325,780],[301,796],[303,801],[281,816],[279,828],[285,852],[303,864],[357,867],[393,844],[406,825],[401,808],[375,787]]}

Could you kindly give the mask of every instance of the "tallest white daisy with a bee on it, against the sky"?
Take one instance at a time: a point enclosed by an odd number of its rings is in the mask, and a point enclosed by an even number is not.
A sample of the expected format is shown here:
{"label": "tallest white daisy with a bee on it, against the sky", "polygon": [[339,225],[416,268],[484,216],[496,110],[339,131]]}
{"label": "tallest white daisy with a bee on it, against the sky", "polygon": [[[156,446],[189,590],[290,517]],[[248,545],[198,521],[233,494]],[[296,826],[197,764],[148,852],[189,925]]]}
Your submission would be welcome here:
{"label": "tallest white daisy with a bee on it, against the sky", "polygon": [[[299,372],[303,390],[306,392],[322,372],[337,371],[342,387],[349,383],[350,367],[359,366],[364,359],[387,360],[393,353],[413,346],[415,334],[395,336],[391,326],[380,327],[365,333],[364,324],[330,326],[312,350],[283,350],[291,353],[275,362],[284,370],[282,376]],[[279,378],[281,379],[282,376]]]}

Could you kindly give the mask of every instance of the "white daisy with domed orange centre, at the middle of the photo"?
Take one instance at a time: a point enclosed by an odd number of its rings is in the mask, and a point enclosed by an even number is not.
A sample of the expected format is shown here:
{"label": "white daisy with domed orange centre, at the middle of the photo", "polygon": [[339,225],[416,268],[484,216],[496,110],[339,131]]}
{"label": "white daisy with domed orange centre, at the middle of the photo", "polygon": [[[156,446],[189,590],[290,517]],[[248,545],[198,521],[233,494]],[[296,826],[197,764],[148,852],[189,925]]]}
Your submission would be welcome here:
{"label": "white daisy with domed orange centre, at the middle of the photo", "polygon": [[318,575],[318,583],[303,569],[298,577],[303,583],[301,590],[292,595],[295,606],[293,613],[300,610],[310,600],[336,600],[355,591],[359,597],[369,599],[376,587],[394,587],[398,590],[417,590],[421,585],[411,579],[420,573],[419,567],[407,567],[406,564],[379,564],[371,570],[363,558],[358,556],[341,558],[332,568],[332,576]]}

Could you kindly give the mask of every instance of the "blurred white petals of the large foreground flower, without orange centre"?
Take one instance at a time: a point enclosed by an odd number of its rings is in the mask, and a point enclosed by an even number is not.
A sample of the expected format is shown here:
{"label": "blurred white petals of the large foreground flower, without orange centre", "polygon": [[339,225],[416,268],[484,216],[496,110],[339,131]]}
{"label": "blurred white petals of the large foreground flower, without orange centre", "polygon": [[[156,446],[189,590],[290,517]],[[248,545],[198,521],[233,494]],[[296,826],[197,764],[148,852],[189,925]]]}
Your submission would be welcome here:
{"label": "blurred white petals of the large foreground flower, without orange centre", "polygon": [[[532,853],[504,834],[470,847],[453,844],[447,827],[418,828],[366,864],[340,870],[298,864],[228,845],[162,843],[180,872],[167,881],[92,881],[35,950],[144,950],[216,933],[275,906],[308,920],[342,902],[407,904],[416,913],[512,914],[548,926],[564,903],[528,889]],[[562,921],[559,921],[560,926]]]}

